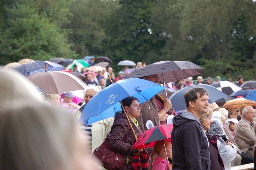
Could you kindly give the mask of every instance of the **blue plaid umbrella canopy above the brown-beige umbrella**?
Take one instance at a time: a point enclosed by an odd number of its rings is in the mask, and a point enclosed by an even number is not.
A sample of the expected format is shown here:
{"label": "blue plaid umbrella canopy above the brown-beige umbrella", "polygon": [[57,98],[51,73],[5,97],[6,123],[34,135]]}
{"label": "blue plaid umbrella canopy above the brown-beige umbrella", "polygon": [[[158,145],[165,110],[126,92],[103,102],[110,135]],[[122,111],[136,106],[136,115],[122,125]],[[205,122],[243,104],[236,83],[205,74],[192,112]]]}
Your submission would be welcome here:
{"label": "blue plaid umbrella canopy above the brown-beige umbrella", "polygon": [[64,66],[61,66],[57,63],[51,62],[51,61],[42,61],[42,60],[36,60],[32,63],[23,64],[19,67],[13,68],[14,70],[17,70],[21,74],[25,76],[29,76],[34,73],[44,72],[45,71],[45,63],[47,66],[47,71],[60,71],[64,69]]}

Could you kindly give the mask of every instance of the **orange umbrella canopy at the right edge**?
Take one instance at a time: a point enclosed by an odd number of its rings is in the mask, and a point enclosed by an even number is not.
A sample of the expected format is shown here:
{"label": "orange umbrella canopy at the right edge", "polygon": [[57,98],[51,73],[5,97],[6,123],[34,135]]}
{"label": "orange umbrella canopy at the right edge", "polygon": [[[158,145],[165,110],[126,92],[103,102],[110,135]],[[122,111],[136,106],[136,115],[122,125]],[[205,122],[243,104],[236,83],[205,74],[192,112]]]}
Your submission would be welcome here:
{"label": "orange umbrella canopy at the right edge", "polygon": [[233,100],[227,101],[222,107],[226,109],[236,109],[242,107],[242,110],[244,109],[245,106],[256,106],[256,102],[251,101],[251,100],[246,100],[243,97],[241,98],[236,98]]}

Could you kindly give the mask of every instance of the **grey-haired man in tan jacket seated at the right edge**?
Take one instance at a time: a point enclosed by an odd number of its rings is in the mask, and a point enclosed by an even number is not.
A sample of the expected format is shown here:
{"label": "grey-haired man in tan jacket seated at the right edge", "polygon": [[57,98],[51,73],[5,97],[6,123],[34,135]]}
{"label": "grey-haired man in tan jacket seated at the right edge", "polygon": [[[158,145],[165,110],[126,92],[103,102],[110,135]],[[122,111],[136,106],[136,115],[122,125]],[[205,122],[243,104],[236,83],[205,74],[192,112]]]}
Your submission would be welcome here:
{"label": "grey-haired man in tan jacket seated at the right edge", "polygon": [[236,126],[236,144],[247,156],[253,158],[252,149],[256,143],[256,136],[253,129],[255,111],[251,106],[246,106],[242,113],[243,118]]}

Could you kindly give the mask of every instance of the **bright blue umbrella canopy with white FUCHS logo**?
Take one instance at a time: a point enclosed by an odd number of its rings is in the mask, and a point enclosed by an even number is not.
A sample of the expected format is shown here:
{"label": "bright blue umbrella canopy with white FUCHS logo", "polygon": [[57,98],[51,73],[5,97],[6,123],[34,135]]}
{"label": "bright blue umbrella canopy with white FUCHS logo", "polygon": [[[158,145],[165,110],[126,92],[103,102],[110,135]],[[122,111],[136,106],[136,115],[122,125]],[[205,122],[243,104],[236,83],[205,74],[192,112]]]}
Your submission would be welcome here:
{"label": "bright blue umbrella canopy with white FUCHS logo", "polygon": [[88,125],[113,117],[117,111],[122,110],[119,103],[122,99],[133,96],[138,98],[140,103],[144,103],[163,89],[165,87],[144,79],[120,80],[92,97],[84,107],[80,121]]}

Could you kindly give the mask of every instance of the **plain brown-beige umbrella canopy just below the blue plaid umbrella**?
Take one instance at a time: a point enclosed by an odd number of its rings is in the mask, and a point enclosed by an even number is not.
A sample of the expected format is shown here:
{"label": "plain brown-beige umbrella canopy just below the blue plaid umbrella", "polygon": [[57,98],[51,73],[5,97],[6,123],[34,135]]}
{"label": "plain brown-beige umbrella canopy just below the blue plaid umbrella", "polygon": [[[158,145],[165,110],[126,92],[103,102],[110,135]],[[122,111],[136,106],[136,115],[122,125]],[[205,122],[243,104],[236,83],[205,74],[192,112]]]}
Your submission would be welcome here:
{"label": "plain brown-beige umbrella canopy just below the blue plaid umbrella", "polygon": [[46,94],[60,94],[68,91],[83,90],[88,86],[73,74],[61,71],[35,73],[27,78]]}

